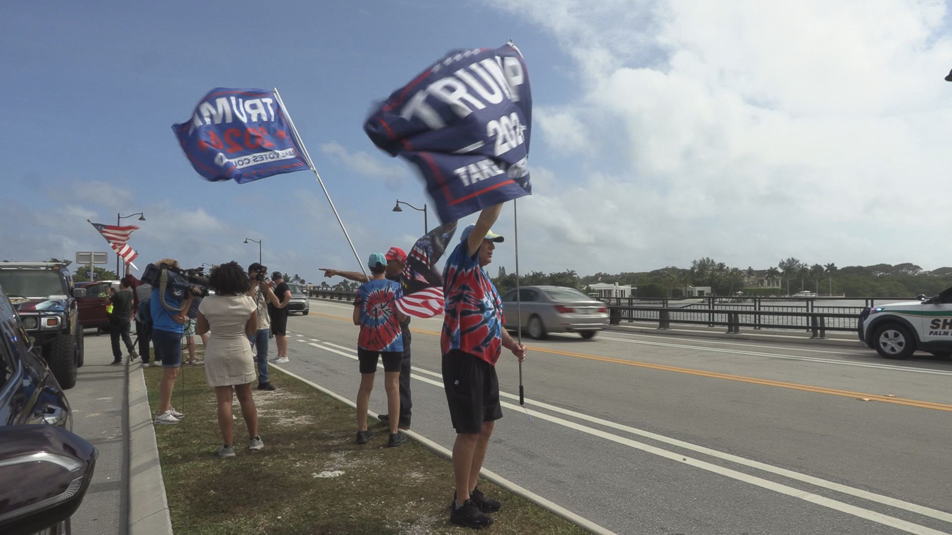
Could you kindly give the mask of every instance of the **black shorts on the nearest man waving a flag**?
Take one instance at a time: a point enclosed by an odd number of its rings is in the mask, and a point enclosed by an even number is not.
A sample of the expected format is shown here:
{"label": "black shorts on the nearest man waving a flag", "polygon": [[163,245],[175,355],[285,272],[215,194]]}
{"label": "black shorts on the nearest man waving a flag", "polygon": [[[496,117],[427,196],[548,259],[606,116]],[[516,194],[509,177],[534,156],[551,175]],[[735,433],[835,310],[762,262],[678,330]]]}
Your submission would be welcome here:
{"label": "black shorts on the nearest man waving a flag", "polygon": [[496,367],[459,349],[443,355],[443,387],[457,433],[478,433],[503,417]]}

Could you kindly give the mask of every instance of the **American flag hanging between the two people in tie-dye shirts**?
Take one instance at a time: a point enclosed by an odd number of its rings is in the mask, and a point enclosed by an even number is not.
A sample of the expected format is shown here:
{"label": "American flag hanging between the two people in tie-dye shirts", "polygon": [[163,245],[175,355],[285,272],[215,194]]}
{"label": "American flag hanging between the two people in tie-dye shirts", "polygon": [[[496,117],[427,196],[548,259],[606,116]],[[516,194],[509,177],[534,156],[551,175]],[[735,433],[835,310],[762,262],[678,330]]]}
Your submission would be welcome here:
{"label": "American flag hanging between the two people in tie-dye shirts", "polygon": [[456,222],[430,230],[417,240],[407,256],[401,284],[404,298],[397,309],[416,318],[432,318],[443,313],[443,274],[434,269],[453,238]]}

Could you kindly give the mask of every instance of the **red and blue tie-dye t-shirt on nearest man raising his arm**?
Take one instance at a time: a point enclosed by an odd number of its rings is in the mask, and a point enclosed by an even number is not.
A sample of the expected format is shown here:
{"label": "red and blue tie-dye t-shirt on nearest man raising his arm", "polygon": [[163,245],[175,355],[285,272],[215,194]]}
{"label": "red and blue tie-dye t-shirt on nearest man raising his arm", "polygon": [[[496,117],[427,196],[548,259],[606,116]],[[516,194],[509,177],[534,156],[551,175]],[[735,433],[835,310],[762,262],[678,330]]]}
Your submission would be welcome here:
{"label": "red and blue tie-dye t-shirt on nearest man raising his arm", "polygon": [[460,349],[496,366],[503,347],[503,302],[479,265],[479,251],[471,257],[466,252],[466,242],[456,246],[443,268],[440,346],[444,354]]}

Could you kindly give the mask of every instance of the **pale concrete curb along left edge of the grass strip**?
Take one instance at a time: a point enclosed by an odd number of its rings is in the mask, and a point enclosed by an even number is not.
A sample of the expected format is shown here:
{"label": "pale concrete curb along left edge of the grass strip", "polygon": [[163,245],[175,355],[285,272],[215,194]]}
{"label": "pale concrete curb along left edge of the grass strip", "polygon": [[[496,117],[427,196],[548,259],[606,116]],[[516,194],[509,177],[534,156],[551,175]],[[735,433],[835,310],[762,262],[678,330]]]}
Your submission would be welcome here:
{"label": "pale concrete curb along left edge of the grass strip", "polygon": [[171,535],[166,484],[159,463],[146,377],[137,361],[128,365],[129,384],[129,533]]}

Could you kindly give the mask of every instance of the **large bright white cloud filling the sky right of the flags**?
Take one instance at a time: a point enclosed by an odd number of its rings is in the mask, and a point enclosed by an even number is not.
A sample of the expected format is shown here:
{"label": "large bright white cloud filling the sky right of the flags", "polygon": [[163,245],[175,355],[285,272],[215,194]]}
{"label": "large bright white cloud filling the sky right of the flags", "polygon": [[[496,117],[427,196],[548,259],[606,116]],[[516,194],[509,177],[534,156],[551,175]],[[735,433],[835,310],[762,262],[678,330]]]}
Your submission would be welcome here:
{"label": "large bright white cloud filling the sky right of the flags", "polygon": [[922,239],[952,225],[923,207],[950,190],[942,2],[490,3],[549,30],[582,91],[538,116],[533,141],[579,149],[530,158],[539,261],[948,264]]}

